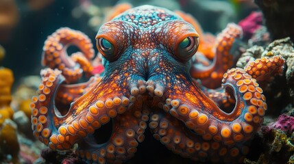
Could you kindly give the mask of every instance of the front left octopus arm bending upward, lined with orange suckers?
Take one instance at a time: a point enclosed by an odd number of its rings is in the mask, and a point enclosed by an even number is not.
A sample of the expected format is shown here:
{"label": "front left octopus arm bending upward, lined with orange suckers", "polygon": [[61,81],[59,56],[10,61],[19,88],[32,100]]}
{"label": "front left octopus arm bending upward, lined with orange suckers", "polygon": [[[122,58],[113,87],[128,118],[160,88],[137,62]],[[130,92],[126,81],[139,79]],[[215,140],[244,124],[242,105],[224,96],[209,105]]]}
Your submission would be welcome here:
{"label": "front left octopus arm bending upward, lined with orange suckers", "polygon": [[38,96],[32,98],[34,135],[53,150],[67,150],[78,139],[93,134],[118,113],[132,105],[114,80],[97,83],[86,94],[71,103],[65,115],[56,108],[56,93],[64,81],[60,70],[42,70]]}

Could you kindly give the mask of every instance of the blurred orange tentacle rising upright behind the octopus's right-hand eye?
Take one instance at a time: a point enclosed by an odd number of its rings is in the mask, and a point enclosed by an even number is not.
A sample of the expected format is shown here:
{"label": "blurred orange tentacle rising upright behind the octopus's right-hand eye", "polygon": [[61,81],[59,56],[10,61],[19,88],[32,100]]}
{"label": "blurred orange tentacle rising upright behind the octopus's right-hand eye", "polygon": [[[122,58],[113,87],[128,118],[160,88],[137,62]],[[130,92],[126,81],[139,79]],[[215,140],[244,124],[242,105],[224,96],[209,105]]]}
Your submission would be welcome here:
{"label": "blurred orange tentacle rising upright behind the octopus's right-hand eye", "polygon": [[190,70],[191,76],[196,79],[201,79],[203,85],[206,87],[219,87],[220,81],[223,78],[223,73],[233,65],[233,55],[231,54],[231,50],[234,41],[241,38],[241,36],[241,27],[232,23],[228,24],[228,26],[217,36],[217,41],[215,43],[215,57],[212,64],[204,66],[199,63],[194,63]]}

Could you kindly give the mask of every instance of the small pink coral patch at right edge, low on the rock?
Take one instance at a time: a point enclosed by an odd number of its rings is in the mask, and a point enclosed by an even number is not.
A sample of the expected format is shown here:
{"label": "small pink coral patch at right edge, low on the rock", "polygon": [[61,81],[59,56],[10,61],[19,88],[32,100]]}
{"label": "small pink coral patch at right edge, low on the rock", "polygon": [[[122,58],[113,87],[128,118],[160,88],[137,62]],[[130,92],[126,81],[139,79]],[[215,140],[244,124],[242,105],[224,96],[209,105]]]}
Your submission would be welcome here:
{"label": "small pink coral patch at right edge, low on the rock", "polygon": [[278,120],[273,124],[273,128],[280,128],[285,133],[293,133],[294,118],[290,115],[280,115]]}

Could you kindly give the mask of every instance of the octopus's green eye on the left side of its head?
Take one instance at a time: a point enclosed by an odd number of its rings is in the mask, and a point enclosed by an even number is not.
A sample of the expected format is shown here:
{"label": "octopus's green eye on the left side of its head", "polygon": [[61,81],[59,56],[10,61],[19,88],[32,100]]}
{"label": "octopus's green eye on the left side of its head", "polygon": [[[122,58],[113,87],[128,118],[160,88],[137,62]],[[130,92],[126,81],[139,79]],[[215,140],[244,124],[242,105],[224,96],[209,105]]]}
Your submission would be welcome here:
{"label": "octopus's green eye on the left side of its head", "polygon": [[100,51],[100,53],[108,59],[109,61],[113,61],[116,56],[114,55],[114,45],[106,40],[106,38],[98,38],[97,39],[97,48]]}

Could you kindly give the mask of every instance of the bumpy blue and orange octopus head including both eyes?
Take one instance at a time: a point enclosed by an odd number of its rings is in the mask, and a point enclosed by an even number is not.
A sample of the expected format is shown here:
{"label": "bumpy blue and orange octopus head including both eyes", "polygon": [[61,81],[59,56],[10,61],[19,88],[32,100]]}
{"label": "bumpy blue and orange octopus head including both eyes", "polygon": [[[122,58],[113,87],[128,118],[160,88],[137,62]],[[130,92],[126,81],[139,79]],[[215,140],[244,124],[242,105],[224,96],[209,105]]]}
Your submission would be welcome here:
{"label": "bumpy blue and orange octopus head including both eyes", "polygon": [[105,77],[117,75],[127,79],[129,86],[147,81],[151,91],[151,85],[158,85],[160,96],[164,86],[176,81],[175,75],[189,77],[189,61],[197,51],[199,35],[190,23],[169,15],[169,11],[154,10],[140,13],[140,18],[132,12],[128,12],[128,20],[125,15],[114,18],[99,29],[96,39]]}

